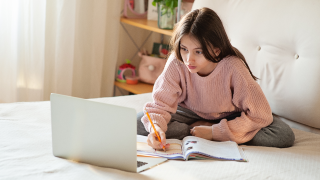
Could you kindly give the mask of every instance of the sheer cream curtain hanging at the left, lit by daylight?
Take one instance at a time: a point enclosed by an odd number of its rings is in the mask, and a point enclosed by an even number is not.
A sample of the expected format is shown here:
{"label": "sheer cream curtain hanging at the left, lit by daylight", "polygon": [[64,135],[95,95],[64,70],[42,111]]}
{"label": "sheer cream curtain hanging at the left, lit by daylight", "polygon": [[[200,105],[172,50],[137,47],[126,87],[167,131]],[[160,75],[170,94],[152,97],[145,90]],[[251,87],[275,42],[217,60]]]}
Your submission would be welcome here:
{"label": "sheer cream curtain hanging at the left, lit by daylight", "polygon": [[111,96],[121,1],[0,0],[0,102]]}

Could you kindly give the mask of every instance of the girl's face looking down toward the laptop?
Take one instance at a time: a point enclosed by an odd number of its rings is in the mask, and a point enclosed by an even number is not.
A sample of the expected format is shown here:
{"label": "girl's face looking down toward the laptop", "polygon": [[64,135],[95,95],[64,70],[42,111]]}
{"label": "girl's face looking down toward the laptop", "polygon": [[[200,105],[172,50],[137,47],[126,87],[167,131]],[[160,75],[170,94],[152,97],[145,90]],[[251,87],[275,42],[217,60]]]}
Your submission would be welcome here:
{"label": "girl's face looking down toward the laptop", "polygon": [[[219,55],[219,49],[214,48],[216,56]],[[198,73],[200,76],[209,75],[217,63],[207,60],[203,53],[200,43],[190,35],[184,35],[180,41],[180,54],[184,64],[191,73]]]}

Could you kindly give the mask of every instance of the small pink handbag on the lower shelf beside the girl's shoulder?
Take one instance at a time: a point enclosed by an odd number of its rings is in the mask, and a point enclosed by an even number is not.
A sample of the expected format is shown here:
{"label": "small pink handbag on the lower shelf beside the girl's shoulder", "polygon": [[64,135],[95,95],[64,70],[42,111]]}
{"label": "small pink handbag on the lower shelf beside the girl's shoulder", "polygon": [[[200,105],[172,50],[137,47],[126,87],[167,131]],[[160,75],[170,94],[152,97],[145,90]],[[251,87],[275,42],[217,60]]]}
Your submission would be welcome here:
{"label": "small pink handbag on the lower shelf beside the girl's shoulder", "polygon": [[139,64],[139,80],[145,83],[154,84],[162,73],[167,60],[149,56],[145,50],[138,54],[142,58]]}

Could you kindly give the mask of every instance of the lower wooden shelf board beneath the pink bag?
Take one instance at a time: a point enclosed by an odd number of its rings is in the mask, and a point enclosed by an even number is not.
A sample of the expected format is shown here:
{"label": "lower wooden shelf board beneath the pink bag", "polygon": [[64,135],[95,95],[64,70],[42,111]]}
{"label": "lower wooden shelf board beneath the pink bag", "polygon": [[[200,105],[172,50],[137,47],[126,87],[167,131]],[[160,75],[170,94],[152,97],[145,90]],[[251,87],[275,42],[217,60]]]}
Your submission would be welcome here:
{"label": "lower wooden shelf board beneath the pink bag", "polygon": [[118,81],[114,81],[114,85],[127,90],[133,94],[143,94],[143,93],[150,93],[152,92],[153,85],[152,84],[146,84],[143,82],[138,82],[138,84],[127,84],[127,83],[121,83]]}

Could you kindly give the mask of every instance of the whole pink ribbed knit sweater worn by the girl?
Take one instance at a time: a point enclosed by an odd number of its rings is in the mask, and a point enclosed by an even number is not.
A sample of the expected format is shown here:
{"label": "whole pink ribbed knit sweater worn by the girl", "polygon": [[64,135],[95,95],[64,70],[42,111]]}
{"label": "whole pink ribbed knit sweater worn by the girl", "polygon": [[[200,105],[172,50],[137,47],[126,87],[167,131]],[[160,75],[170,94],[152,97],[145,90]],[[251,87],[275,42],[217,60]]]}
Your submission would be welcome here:
{"label": "whole pink ribbed knit sweater worn by the girl", "polygon": [[[251,140],[263,127],[273,121],[271,108],[259,84],[253,80],[243,62],[235,56],[222,59],[214,71],[201,77],[171,55],[164,71],[154,84],[153,102],[145,104],[151,119],[163,131],[178,104],[207,120],[216,120],[234,112],[241,116],[223,119],[212,126],[215,141]],[[147,131],[151,124],[146,115],[141,119]]]}

